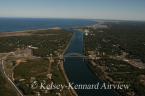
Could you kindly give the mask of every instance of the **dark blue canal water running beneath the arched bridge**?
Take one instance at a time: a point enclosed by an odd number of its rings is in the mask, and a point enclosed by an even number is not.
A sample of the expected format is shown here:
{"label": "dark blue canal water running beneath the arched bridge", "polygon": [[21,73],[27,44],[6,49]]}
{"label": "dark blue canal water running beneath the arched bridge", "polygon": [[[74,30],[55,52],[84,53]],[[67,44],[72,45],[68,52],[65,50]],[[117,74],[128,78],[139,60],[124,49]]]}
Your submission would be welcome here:
{"label": "dark blue canal water running beneath the arched bridge", "polygon": [[[75,31],[71,44],[65,54],[84,52],[83,33]],[[71,83],[75,84],[102,84],[102,81],[95,76],[89,68],[89,62],[79,57],[66,57],[64,62],[65,72]],[[118,96],[113,90],[104,89],[79,89],[78,96]]]}

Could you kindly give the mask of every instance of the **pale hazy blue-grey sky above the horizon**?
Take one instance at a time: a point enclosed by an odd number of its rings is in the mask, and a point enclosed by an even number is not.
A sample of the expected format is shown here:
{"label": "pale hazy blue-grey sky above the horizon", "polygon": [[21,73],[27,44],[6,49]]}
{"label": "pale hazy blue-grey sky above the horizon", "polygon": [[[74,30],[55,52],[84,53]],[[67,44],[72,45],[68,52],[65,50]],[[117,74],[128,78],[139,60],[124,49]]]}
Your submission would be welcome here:
{"label": "pale hazy blue-grey sky above the horizon", "polygon": [[0,17],[145,20],[145,0],[0,0]]}

